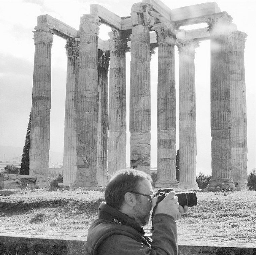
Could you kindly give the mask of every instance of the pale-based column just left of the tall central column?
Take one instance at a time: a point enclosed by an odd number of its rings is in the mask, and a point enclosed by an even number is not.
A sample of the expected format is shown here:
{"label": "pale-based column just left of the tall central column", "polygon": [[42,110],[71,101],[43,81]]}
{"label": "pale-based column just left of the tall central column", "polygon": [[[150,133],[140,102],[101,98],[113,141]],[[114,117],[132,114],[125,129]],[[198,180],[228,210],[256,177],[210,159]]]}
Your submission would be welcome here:
{"label": "pale-based column just left of the tall central column", "polygon": [[109,33],[109,139],[108,179],[126,168],[126,66],[127,40],[124,32]]}

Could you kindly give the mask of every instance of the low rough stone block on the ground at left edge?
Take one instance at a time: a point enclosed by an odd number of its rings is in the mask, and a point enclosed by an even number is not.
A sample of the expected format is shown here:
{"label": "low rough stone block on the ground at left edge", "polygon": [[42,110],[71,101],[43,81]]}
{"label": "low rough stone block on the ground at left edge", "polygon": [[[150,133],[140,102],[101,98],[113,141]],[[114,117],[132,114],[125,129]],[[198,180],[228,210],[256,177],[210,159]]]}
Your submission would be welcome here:
{"label": "low rough stone block on the ground at left edge", "polygon": [[0,188],[15,189],[26,188],[27,184],[34,184],[36,178],[30,175],[0,173]]}

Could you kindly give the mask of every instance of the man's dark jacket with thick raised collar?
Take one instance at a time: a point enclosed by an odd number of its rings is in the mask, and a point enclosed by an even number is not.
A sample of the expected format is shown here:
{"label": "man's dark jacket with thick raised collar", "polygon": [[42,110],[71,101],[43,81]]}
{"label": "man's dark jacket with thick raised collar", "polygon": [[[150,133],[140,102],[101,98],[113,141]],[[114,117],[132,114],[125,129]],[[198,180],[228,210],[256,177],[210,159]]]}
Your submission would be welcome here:
{"label": "man's dark jacket with thick raised collar", "polygon": [[129,216],[102,202],[99,217],[90,226],[86,254],[177,254],[177,227],[174,219],[157,214],[152,236]]}

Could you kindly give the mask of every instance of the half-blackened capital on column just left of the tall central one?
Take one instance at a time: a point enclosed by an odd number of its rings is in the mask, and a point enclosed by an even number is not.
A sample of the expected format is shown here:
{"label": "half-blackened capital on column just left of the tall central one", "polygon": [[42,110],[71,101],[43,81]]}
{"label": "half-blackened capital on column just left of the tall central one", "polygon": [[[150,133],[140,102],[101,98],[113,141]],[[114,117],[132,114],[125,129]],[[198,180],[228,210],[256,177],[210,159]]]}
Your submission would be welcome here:
{"label": "half-blackened capital on column just left of the tall central one", "polygon": [[127,35],[124,31],[112,29],[112,32],[109,32],[109,49],[113,50],[126,50],[127,49]]}

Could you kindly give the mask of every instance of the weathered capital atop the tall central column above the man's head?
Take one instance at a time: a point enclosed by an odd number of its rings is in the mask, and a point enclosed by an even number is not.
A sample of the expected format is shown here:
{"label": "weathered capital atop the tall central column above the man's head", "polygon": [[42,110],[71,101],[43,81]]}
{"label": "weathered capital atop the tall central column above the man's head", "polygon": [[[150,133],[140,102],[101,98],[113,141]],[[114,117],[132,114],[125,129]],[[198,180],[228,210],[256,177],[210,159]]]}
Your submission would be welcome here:
{"label": "weathered capital atop the tall central column above the man's head", "polygon": [[131,20],[133,26],[143,25],[150,26],[151,16],[150,11],[152,10],[152,5],[142,2],[135,3],[131,10]]}

